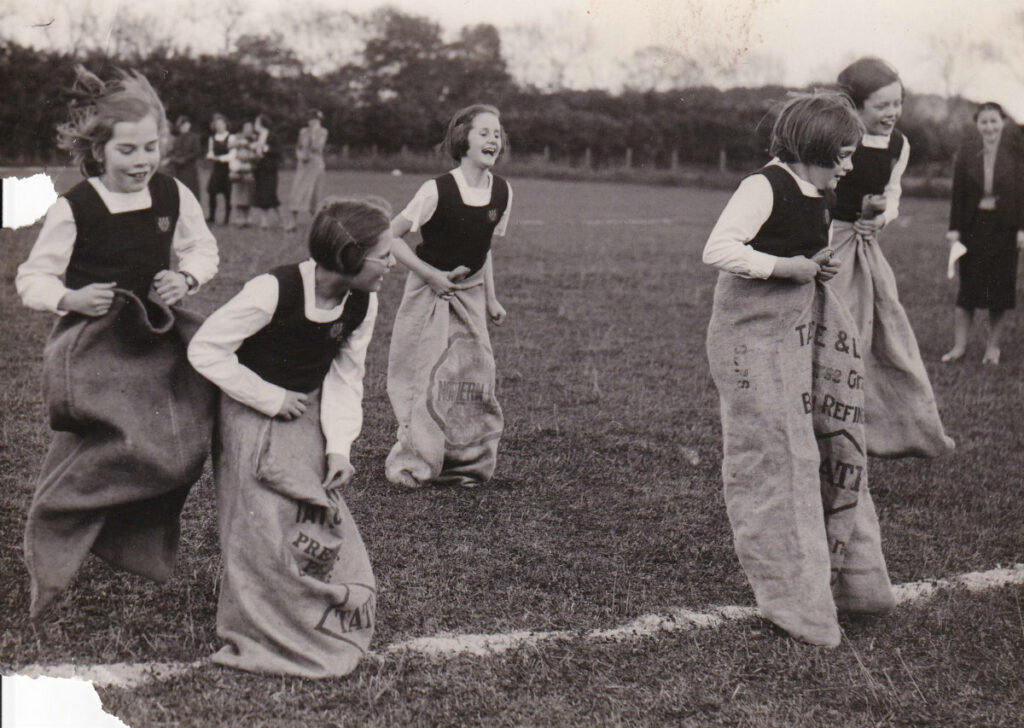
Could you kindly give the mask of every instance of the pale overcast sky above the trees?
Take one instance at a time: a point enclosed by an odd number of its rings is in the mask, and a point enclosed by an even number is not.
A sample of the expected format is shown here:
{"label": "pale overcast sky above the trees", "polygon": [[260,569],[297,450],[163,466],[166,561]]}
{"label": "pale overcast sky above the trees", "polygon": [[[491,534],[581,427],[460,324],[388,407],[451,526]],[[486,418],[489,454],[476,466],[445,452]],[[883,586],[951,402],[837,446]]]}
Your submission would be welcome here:
{"label": "pale overcast sky above the trees", "polygon": [[[124,7],[166,17],[183,4],[211,12],[223,2],[0,0],[0,8],[14,13],[4,19],[5,32],[31,42],[38,41],[41,33],[31,25],[59,17],[61,8],[91,6],[111,23]],[[302,6],[361,13],[381,4],[308,0]],[[834,80],[853,58],[876,54],[892,62],[912,90],[938,93],[945,86],[942,61],[951,56],[957,61],[951,76],[954,91],[975,100],[998,100],[1024,119],[1024,24],[1012,22],[1014,13],[1024,12],[1024,0],[391,0],[389,4],[435,19],[450,34],[478,23],[499,29],[539,24],[585,31],[591,37],[589,49],[566,75],[566,83],[578,87],[615,88],[623,80],[624,60],[649,45],[694,53],[720,68],[738,65],[742,71],[744,65],[753,66],[762,76],[769,69],[778,77],[772,80],[794,86]],[[246,7],[246,30],[268,32],[273,25],[267,18],[295,5],[294,0],[248,0]],[[219,41],[209,30],[212,27],[189,29],[193,45],[216,48]],[[936,39],[953,50],[936,51]],[[1013,48],[1016,63],[971,59],[967,48],[979,41]],[[774,62],[766,63],[766,58]]]}

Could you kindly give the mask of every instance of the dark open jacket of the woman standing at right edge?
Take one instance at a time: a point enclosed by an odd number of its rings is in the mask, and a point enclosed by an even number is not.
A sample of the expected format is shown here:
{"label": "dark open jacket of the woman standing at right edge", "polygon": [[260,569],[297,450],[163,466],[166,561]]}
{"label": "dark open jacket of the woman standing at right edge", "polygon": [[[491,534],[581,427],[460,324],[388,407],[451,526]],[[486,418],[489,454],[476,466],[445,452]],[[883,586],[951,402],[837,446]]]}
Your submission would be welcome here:
{"label": "dark open jacket of the woman standing at right edge", "polygon": [[[953,165],[953,191],[949,205],[949,229],[971,228],[978,203],[984,195],[984,162],[980,139],[966,142]],[[992,172],[995,213],[1005,227],[1024,230],[1024,152],[1017,129],[1008,124],[995,151]]]}

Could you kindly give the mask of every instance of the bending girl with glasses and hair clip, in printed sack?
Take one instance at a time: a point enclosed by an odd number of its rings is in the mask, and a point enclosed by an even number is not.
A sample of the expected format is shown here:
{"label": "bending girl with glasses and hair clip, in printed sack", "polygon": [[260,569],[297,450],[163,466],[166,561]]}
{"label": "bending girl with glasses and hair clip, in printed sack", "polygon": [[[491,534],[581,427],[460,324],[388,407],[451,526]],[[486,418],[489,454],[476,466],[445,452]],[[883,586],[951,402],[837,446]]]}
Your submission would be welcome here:
{"label": "bending girl with glasses and hair clip, in printed sack", "polygon": [[355,472],[377,291],[394,265],[389,212],[383,201],[325,203],[310,259],[250,281],[188,347],[222,391],[220,665],[342,676],[370,645],[377,587],[341,494]]}

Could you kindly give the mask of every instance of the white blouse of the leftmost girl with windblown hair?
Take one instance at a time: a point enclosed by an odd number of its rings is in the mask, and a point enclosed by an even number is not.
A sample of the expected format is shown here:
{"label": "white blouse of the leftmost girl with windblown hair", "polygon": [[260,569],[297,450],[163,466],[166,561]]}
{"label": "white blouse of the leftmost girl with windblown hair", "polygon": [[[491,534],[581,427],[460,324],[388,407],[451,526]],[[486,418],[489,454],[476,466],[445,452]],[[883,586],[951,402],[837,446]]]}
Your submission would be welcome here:
{"label": "white blouse of the leftmost girl with windblown hair", "polygon": [[[112,215],[153,207],[148,187],[137,192],[115,192],[106,188],[99,177],[89,177],[89,184],[99,195]],[[177,179],[178,222],[171,239],[171,249],[178,258],[178,270],[191,273],[200,285],[205,284],[217,272],[220,259],[217,241],[206,225],[203,208],[196,196]],[[39,238],[29,253],[29,259],[17,267],[14,288],[22,302],[29,308],[51,311],[63,315],[57,304],[69,289],[61,281],[75,249],[78,229],[71,203],[66,198],[57,198],[46,212]],[[193,291],[191,293],[195,293]]]}

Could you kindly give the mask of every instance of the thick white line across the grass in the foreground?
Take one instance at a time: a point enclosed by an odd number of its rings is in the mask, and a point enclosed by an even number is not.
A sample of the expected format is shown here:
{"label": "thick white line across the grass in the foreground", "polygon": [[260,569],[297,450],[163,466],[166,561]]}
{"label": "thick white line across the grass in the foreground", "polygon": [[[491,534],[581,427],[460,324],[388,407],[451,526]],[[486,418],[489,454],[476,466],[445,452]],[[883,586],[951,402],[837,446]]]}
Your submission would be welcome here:
{"label": "thick white line across the grass in the foreground", "polygon": [[[951,579],[927,580],[900,584],[893,587],[897,604],[910,604],[935,595],[939,590],[959,587],[970,592],[981,592],[1012,584],[1024,584],[1024,564],[1009,568],[993,568],[988,571],[972,571]],[[753,619],[758,615],[756,607],[722,606],[697,612],[689,609],[672,609],[668,614],[644,614],[622,627],[610,630],[556,630],[549,632],[506,632],[490,635],[436,635],[418,637],[404,642],[386,645],[377,656],[395,652],[418,652],[420,654],[444,657],[455,655],[487,656],[507,652],[516,647],[535,645],[540,642],[584,640],[624,641],[649,637],[662,632],[717,629],[732,622]],[[17,675],[28,677],[49,676],[57,678],[81,678],[91,680],[98,686],[134,687],[156,680],[181,675],[198,670],[209,660],[196,662],[116,662],[112,665],[30,665],[16,670]]]}

